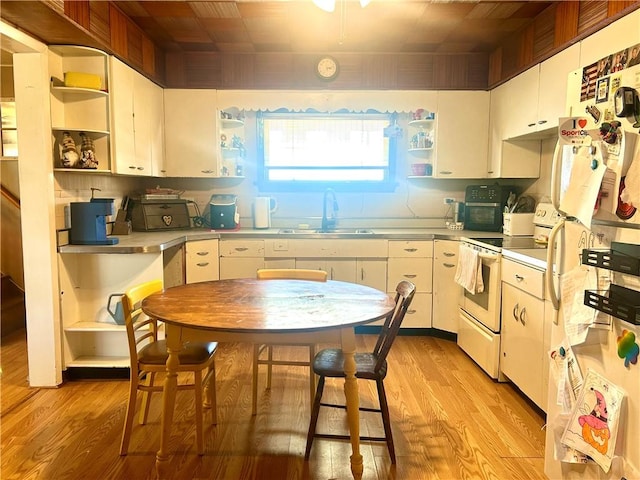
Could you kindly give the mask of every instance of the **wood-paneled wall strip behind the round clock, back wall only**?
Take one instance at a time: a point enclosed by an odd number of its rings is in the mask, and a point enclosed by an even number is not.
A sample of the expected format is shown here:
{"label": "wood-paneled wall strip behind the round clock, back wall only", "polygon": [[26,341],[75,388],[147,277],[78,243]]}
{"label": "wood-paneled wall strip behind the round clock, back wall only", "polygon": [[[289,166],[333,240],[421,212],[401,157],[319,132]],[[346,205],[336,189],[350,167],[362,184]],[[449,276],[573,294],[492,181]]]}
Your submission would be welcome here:
{"label": "wood-paneled wall strip behind the round clock, back wall only", "polygon": [[485,89],[488,56],[476,54],[335,53],[340,72],[326,82],[315,74],[317,55],[172,52],[166,83],[172,88],[219,89]]}

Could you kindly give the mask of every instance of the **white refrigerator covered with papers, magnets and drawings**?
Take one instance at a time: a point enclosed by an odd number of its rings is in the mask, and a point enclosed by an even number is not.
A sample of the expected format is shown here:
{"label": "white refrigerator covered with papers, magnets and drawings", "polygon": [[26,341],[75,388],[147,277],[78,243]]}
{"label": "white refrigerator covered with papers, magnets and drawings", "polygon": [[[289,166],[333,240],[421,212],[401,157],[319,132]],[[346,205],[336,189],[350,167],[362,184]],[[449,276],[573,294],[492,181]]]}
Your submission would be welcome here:
{"label": "white refrigerator covered with papers, magnets and drawings", "polygon": [[[618,72],[607,85],[640,90],[638,72]],[[596,105],[610,116],[615,91],[607,99]],[[601,132],[605,119],[588,114],[589,100],[568,110],[579,116],[561,119],[565,135],[552,167],[552,203],[562,219],[547,258],[553,320],[544,471],[553,480],[640,479],[640,141],[631,116],[616,117],[619,125],[609,118],[614,130]],[[572,135],[579,140],[571,143]]]}

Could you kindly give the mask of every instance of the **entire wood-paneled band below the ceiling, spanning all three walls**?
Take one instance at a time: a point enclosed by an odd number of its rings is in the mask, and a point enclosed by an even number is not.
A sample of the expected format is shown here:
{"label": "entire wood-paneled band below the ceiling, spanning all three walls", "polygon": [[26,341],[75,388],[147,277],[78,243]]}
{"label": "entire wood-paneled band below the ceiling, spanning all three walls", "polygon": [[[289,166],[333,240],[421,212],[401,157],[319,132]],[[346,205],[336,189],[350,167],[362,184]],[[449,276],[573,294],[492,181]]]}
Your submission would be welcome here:
{"label": "entire wood-paneled band below the ceiling, spanning all three walls", "polygon": [[558,2],[488,55],[335,53],[340,75],[331,83],[315,76],[313,55],[164,52],[109,2],[2,0],[0,15],[44,43],[115,54],[171,88],[474,90],[497,86],[638,7],[630,0]]}

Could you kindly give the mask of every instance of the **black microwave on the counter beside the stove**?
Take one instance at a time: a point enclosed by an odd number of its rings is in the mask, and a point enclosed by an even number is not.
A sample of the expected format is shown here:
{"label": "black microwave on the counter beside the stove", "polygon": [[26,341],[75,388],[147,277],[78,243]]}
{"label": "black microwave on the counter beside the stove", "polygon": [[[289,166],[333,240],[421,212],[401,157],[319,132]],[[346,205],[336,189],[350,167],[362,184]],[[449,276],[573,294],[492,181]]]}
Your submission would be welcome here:
{"label": "black microwave on the counter beside the stove", "polygon": [[464,197],[464,229],[502,231],[502,214],[510,193],[517,188],[504,185],[469,185]]}

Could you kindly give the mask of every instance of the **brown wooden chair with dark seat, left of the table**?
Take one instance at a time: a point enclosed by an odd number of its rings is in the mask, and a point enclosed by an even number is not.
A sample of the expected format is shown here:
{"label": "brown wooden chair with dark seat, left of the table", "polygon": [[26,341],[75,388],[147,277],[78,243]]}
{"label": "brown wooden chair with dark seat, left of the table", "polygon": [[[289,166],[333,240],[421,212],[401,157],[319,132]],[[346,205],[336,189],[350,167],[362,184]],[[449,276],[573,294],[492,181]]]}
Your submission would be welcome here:
{"label": "brown wooden chair with dark seat, left of the table", "polygon": [[[149,318],[142,312],[140,304],[149,295],[162,291],[162,281],[152,280],[127,290],[122,297],[122,310],[124,313],[129,341],[129,357],[131,360],[131,381],[129,385],[129,401],[127,404],[127,416],[124,421],[120,455],[126,455],[129,449],[133,416],[136,408],[138,390],[143,392],[142,409],[140,410],[140,424],[145,424],[151,401],[151,393],[161,392],[163,384],[154,383],[158,372],[165,372],[167,363],[167,346],[165,340],[158,340],[158,322]],[[206,388],[204,406],[211,407],[212,423],[217,422],[216,417],[216,391],[215,391],[215,364],[214,353],[218,344],[216,342],[192,342],[184,346],[179,354],[180,368],[178,372],[191,372],[194,374],[193,383],[179,384],[178,390],[195,391],[196,410],[196,444],[198,454],[204,453],[203,447],[203,379],[206,371],[204,385]],[[147,379],[145,383],[145,377]]]}

